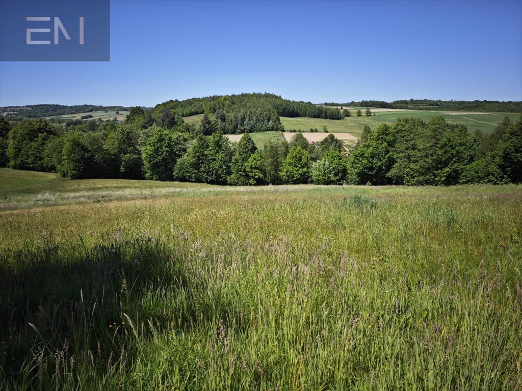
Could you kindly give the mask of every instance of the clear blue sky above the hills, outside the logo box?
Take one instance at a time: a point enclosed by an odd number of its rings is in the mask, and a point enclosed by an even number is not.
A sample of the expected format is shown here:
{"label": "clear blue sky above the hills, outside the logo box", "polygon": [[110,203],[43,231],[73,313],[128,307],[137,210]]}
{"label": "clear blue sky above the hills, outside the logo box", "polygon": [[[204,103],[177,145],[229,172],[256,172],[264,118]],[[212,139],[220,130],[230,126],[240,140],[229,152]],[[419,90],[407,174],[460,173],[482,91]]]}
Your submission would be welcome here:
{"label": "clear blue sky above the hills, outside the logo box", "polygon": [[0,106],[265,91],[520,101],[522,1],[112,0],[110,62],[0,63]]}

